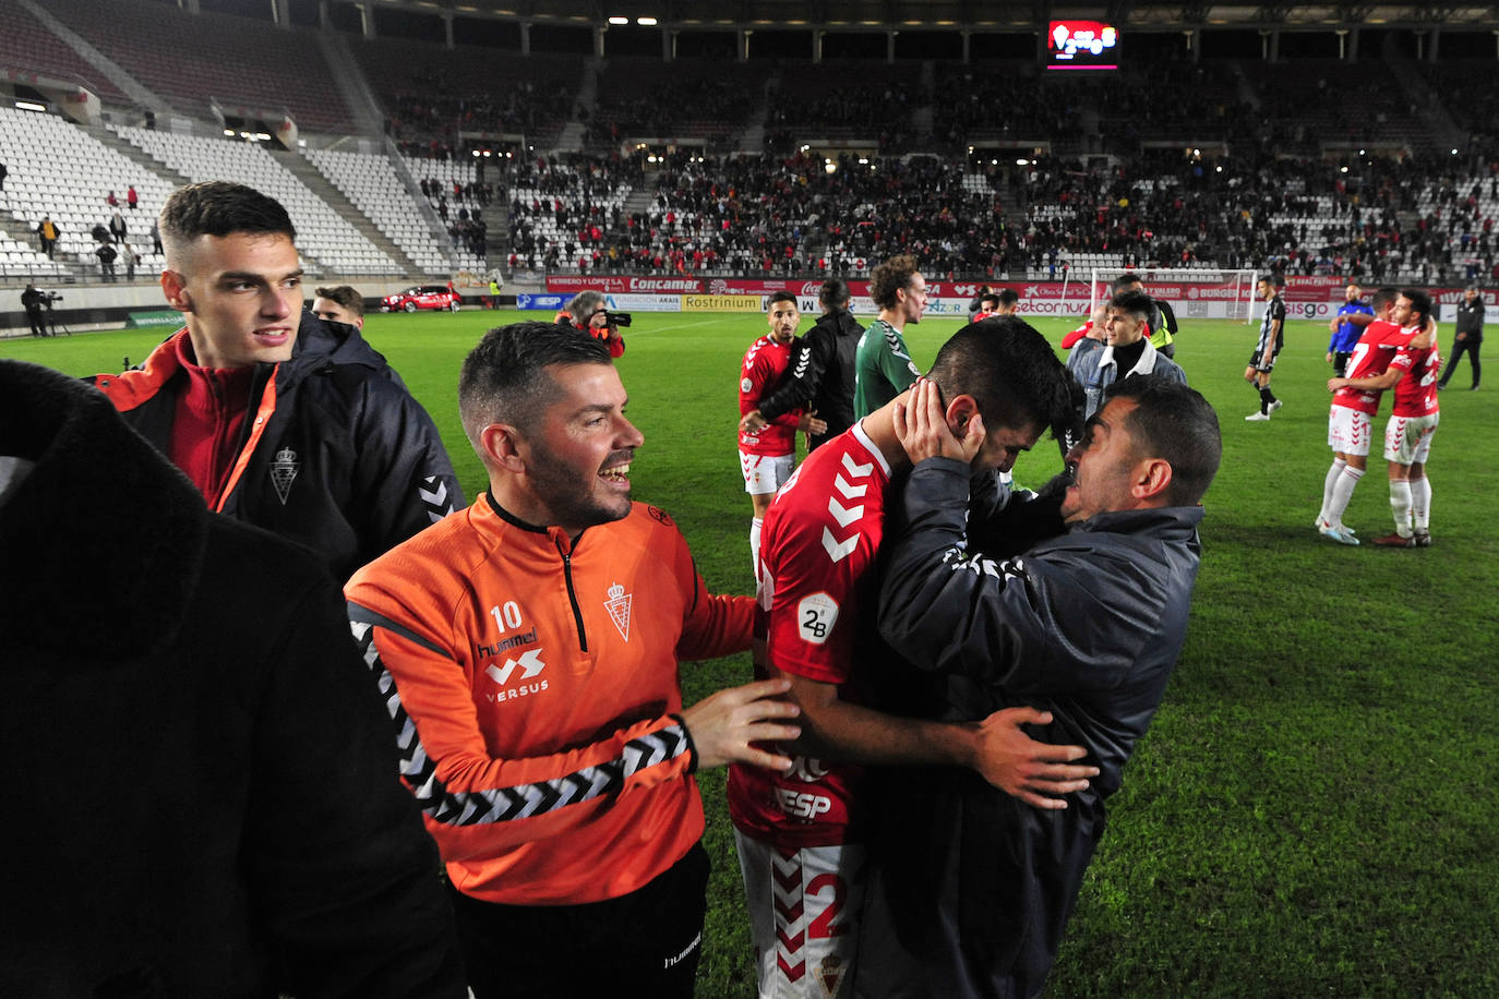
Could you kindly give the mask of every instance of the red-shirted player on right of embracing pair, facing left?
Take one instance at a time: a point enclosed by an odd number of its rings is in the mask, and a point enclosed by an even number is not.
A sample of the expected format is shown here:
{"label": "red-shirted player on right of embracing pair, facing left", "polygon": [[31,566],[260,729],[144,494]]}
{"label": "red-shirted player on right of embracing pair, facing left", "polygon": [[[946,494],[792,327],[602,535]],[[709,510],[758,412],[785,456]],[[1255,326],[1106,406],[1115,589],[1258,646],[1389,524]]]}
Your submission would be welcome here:
{"label": "red-shirted player on right of embracing pair, facing left", "polygon": [[[1391,319],[1402,327],[1408,346],[1375,376],[1351,379],[1352,388],[1382,391],[1394,388],[1394,407],[1385,427],[1385,461],[1390,463],[1390,509],[1396,533],[1375,538],[1387,548],[1417,548],[1432,544],[1432,484],[1426,460],[1432,452],[1439,407],[1436,380],[1442,359],[1432,335],[1417,337],[1432,315],[1432,298],[1406,289],[1396,298]],[[1357,355],[1355,355],[1357,356]]]}

